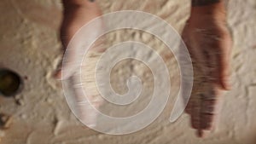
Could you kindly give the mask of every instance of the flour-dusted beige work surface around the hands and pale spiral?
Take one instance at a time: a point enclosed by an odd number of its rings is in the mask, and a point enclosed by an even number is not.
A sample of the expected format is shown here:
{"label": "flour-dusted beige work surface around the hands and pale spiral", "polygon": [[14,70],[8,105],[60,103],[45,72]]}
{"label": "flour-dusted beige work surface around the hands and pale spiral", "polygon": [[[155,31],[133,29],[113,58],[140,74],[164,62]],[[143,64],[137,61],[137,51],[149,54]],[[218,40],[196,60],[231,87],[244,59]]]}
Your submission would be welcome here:
{"label": "flour-dusted beige work surface around the hands and pale spiral", "polygon": [[[143,10],[156,14],[181,32],[189,15],[189,0],[102,0],[104,13],[117,10]],[[0,130],[3,144],[255,144],[256,143],[256,1],[231,0],[228,3],[229,25],[234,38],[232,54],[233,88],[224,95],[218,125],[205,139],[195,136],[189,127],[189,116],[183,114],[175,123],[168,121],[174,99],[153,124],[130,135],[104,135],[89,130],[73,116],[61,91],[61,82],[51,77],[61,60],[58,26],[61,22],[61,2],[55,0],[2,0],[0,2],[0,61],[2,66],[19,72],[25,88],[15,98],[0,97],[0,112],[11,116],[9,129]],[[171,72],[172,95],[177,94],[177,64],[165,45],[147,33],[119,31],[110,33],[109,45],[137,40],[157,49]],[[122,37],[121,37],[122,36]],[[150,94],[152,79],[146,66],[137,61],[124,61],[112,79],[113,89],[125,90],[125,66],[147,80]],[[145,73],[141,72],[144,70]],[[148,73],[148,74],[147,74]],[[143,78],[142,78],[143,79]],[[114,83],[117,82],[117,83]],[[118,85],[120,84],[120,85]],[[123,84],[123,85],[122,85]],[[152,90],[152,89],[151,89]],[[148,101],[143,101],[148,102]],[[145,103],[140,103],[145,106]],[[140,109],[125,109],[126,114]],[[130,113],[129,113],[130,112]],[[122,113],[122,114],[125,114]],[[111,114],[111,113],[110,113]]]}

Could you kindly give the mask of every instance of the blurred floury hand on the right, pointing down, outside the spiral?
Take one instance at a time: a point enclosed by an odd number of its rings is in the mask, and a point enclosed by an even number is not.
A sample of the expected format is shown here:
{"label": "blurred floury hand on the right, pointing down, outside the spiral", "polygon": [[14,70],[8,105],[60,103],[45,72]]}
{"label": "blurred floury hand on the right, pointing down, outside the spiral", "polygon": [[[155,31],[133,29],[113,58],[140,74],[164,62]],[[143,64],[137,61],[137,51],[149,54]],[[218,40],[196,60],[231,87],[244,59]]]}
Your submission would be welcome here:
{"label": "blurred floury hand on the right, pointing down, outside the spiral", "polygon": [[202,137],[218,116],[219,95],[230,89],[231,37],[224,15],[191,14],[183,30],[194,66],[194,87],[186,112]]}

